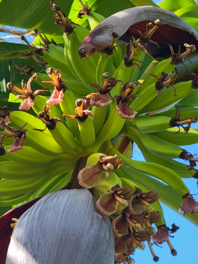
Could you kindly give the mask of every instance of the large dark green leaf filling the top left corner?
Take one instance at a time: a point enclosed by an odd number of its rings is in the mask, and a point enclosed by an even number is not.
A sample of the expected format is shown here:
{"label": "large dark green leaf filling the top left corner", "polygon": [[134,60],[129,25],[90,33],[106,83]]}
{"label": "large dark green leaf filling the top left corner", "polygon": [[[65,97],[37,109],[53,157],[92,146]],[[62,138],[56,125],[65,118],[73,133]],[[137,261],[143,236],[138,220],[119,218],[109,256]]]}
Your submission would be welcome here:
{"label": "large dark green leaf filling the top left corner", "polygon": [[[68,14],[72,0],[57,0],[56,4]],[[20,27],[23,29],[39,29],[42,32],[62,36],[62,29],[54,24],[53,12],[49,1],[0,1],[0,24]]]}

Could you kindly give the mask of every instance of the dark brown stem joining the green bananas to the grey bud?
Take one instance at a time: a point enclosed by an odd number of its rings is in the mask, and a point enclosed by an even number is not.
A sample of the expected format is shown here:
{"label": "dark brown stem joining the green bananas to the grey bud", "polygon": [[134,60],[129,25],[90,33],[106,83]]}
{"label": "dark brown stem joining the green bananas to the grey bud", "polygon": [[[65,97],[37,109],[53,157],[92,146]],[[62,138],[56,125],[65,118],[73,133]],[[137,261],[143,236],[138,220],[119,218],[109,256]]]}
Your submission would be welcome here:
{"label": "dark brown stem joining the green bananas to the grey bud", "polygon": [[72,177],[70,180],[71,183],[71,188],[70,189],[80,189],[82,188],[79,185],[79,181],[78,181],[78,173],[81,169],[83,169],[84,167],[86,167],[86,163],[87,163],[87,158],[89,157],[89,155],[83,156],[81,158],[79,158],[75,164],[74,170],[72,172]]}

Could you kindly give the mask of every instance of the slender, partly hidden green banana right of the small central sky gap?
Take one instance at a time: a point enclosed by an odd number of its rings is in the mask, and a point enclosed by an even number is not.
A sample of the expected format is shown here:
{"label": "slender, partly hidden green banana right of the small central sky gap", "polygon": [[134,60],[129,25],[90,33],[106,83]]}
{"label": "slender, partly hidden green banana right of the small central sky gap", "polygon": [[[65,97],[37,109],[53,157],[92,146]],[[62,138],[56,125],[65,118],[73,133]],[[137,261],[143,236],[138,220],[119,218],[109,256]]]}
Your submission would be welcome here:
{"label": "slender, partly hidden green banana right of the small central sky gap", "polygon": [[173,159],[159,158],[147,150],[142,144],[141,140],[139,140],[136,136],[131,135],[131,139],[138,145],[146,161],[157,163],[166,168],[172,169],[172,171],[176,172],[181,178],[197,178],[196,170],[187,170],[184,163],[175,161]]}

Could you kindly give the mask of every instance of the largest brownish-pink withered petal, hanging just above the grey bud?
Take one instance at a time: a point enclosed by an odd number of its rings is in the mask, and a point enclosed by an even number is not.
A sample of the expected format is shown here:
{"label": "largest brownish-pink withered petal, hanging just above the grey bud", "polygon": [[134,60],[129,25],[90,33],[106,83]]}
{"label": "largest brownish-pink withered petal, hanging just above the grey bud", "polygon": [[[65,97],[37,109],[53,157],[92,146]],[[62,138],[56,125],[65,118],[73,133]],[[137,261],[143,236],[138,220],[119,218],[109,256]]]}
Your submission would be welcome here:
{"label": "largest brownish-pink withered petal, hanging just above the grey bud", "polygon": [[98,162],[95,165],[81,169],[78,173],[79,185],[91,189],[102,183],[102,175],[104,170]]}

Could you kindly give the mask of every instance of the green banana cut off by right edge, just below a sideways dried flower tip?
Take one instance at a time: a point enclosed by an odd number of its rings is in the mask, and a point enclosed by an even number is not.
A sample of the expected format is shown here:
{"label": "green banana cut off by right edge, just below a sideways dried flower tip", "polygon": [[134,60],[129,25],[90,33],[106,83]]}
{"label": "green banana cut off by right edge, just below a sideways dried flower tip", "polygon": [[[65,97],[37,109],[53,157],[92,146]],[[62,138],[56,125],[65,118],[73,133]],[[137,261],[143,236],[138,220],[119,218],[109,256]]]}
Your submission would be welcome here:
{"label": "green banana cut off by right edge, just below a sideways dried flower tip", "polygon": [[198,143],[198,129],[191,128],[188,134],[185,131],[180,131],[180,133],[173,136],[177,131],[178,128],[169,128],[161,132],[152,133],[152,135],[179,146]]}

